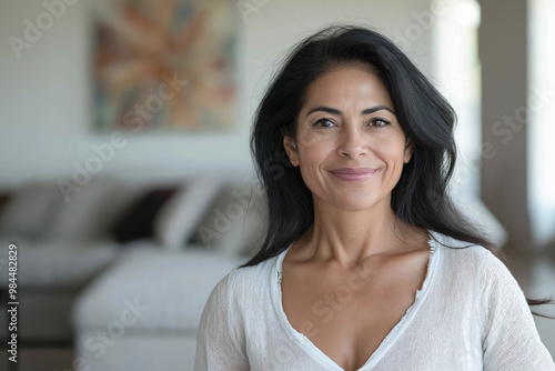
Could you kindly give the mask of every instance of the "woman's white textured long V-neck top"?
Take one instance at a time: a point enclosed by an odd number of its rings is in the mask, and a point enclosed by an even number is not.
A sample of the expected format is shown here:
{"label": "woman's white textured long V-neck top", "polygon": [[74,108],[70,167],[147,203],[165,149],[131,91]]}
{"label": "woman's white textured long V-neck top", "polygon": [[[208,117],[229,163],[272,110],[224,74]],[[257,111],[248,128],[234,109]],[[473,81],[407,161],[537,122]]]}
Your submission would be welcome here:
{"label": "woman's white textured long V-neck top", "polygon": [[[555,370],[505,264],[483,247],[428,233],[438,242],[428,241],[422,289],[360,370]],[[214,287],[201,317],[195,371],[342,370],[283,312],[280,273],[290,248],[234,269]]]}

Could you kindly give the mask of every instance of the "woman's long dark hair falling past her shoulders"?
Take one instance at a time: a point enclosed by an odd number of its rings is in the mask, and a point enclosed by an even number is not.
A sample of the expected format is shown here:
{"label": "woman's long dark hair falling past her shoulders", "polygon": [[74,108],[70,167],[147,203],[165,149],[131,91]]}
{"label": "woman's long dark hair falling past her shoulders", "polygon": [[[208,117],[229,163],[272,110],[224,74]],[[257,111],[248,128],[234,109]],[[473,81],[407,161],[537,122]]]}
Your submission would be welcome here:
{"label": "woman's long dark hair falling past her shoulders", "polygon": [[[251,152],[263,184],[268,230],[256,254],[239,268],[256,265],[280,254],[313,224],[312,193],[300,169],[289,161],[283,136],[296,140],[296,118],[309,84],[324,72],[353,64],[370,66],[377,71],[397,120],[413,143],[412,159],[404,164],[392,191],[391,207],[396,218],[470,242],[468,247],[482,245],[506,264],[503,250],[482,238],[447,194],[456,160],[456,116],[451,104],[382,34],[354,26],[332,26],[293,48],[256,110]],[[526,300],[528,305],[553,301]]]}

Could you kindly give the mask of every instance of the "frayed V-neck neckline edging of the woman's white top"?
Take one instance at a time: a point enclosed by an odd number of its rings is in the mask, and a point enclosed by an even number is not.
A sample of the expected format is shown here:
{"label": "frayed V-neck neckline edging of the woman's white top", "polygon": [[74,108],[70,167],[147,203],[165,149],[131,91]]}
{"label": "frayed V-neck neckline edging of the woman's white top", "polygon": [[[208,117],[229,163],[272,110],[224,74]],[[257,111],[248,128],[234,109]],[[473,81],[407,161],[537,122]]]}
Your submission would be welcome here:
{"label": "frayed V-neck neckline edging of the woman's white top", "polygon": [[[393,329],[385,335],[376,350],[370,355],[370,358],[364,362],[363,365],[357,371],[371,370],[376,363],[382,359],[382,357],[387,353],[389,349],[395,342],[395,340],[403,333],[406,327],[411,323],[412,319],[417,313],[418,309],[422,307],[427,293],[430,292],[430,288],[435,280],[435,272],[437,270],[437,254],[441,249],[437,248],[437,242],[435,241],[438,235],[434,231],[427,230],[430,239],[427,244],[430,247],[428,253],[428,262],[426,269],[426,277],[422,283],[421,290],[416,290],[414,302],[408,307],[405,311],[405,314],[401,318],[401,320],[393,327]],[[281,275],[282,275],[282,263],[285,254],[293,245],[294,241],[279,255],[275,260],[274,268],[272,269],[272,278],[271,278],[271,291],[272,291],[272,301],[274,309],[278,313],[279,321],[281,322],[284,331],[295,341],[302,349],[314,360],[320,362],[323,367],[329,370],[335,371],[345,371],[342,369],[335,361],[333,361],[329,355],[326,355],[320,348],[317,348],[309,338],[304,335],[304,333],[299,332],[291,325],[287,320],[287,315],[283,310],[282,302],[282,289],[281,289]]]}

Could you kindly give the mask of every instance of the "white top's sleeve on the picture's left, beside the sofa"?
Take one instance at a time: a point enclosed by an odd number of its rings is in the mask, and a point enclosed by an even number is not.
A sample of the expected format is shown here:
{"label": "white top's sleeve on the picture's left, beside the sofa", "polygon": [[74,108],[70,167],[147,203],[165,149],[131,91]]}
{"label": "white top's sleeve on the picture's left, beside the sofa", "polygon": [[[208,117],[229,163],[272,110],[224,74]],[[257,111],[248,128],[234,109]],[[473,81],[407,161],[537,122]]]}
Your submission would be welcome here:
{"label": "white top's sleeve on the picture's left, beside the sofa", "polygon": [[250,370],[241,315],[233,305],[236,295],[230,284],[232,273],[214,287],[202,311],[194,371]]}

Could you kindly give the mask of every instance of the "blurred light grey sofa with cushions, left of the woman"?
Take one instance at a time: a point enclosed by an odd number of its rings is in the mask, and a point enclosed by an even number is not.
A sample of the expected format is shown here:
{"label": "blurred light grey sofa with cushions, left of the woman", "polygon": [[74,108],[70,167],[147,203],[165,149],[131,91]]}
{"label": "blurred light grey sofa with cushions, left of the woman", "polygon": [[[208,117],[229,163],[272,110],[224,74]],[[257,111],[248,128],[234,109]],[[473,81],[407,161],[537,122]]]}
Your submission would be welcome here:
{"label": "blurred light grey sofa with cushions, left of the woman", "polygon": [[[160,189],[173,193],[152,235],[114,240],[118,221]],[[73,345],[73,369],[192,369],[210,291],[262,238],[259,193],[241,169],[99,173],[69,202],[53,180],[13,190],[0,209],[0,243],[19,250],[20,347]],[[149,310],[137,311],[135,300]]]}

